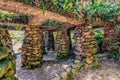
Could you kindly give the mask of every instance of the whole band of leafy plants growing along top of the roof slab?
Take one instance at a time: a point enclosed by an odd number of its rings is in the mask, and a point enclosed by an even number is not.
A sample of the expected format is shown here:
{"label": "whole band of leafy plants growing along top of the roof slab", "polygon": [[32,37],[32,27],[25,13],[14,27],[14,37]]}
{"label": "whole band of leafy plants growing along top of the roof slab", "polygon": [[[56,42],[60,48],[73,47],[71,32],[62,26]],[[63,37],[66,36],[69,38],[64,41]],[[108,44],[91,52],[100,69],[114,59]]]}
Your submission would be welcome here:
{"label": "whole band of leafy plants growing along top of the roof slab", "polygon": [[51,10],[60,14],[82,19],[83,17],[101,18],[113,21],[120,16],[120,1],[107,0],[22,0],[25,4],[37,5],[44,10]]}

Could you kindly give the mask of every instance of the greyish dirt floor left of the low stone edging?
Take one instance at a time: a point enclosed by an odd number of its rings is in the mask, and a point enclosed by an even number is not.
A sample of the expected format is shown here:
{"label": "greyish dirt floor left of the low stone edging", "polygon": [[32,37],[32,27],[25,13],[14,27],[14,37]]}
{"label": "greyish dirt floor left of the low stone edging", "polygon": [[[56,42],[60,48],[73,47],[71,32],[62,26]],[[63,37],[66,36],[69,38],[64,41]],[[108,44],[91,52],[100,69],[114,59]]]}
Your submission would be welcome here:
{"label": "greyish dirt floor left of the low stone edging", "polygon": [[67,61],[46,61],[39,68],[21,68],[20,55],[16,60],[16,76],[19,80],[51,80],[60,75],[68,66],[72,65],[72,60]]}

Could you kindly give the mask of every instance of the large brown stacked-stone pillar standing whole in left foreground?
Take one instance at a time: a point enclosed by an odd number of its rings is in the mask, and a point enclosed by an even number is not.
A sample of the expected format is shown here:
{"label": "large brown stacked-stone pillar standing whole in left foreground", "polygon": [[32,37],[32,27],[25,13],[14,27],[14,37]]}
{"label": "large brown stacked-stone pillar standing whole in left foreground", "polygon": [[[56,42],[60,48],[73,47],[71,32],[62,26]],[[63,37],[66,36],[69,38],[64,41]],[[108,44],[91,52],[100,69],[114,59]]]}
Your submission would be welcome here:
{"label": "large brown stacked-stone pillar standing whole in left foreground", "polygon": [[22,64],[26,68],[40,66],[43,62],[42,32],[35,26],[27,27],[22,49]]}

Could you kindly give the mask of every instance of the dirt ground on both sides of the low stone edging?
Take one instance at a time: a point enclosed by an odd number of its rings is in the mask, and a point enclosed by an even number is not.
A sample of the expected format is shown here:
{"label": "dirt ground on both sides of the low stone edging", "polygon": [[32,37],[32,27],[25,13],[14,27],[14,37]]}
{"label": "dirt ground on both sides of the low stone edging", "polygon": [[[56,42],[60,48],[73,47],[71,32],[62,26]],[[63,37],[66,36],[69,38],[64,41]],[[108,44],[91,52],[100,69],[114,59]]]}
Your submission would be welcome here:
{"label": "dirt ground on both sides of the low stone edging", "polygon": [[[51,80],[72,64],[72,60],[46,61],[41,67],[29,70],[21,68],[20,60],[18,55],[16,76],[19,80]],[[114,60],[102,60],[99,69],[85,69],[79,72],[74,80],[120,80],[120,63]]]}

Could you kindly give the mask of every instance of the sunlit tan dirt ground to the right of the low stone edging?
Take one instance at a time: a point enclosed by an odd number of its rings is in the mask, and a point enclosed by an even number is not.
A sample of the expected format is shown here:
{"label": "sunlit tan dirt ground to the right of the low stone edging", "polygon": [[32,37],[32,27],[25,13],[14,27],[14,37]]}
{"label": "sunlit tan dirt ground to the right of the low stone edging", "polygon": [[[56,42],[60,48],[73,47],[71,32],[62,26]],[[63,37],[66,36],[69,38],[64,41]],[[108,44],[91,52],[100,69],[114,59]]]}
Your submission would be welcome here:
{"label": "sunlit tan dirt ground to the right of the low stone edging", "polygon": [[77,74],[74,80],[120,80],[120,63],[102,60],[99,69],[85,69]]}

